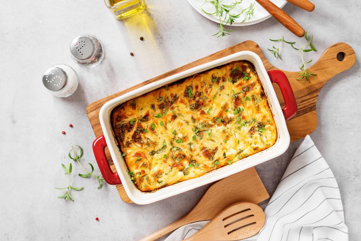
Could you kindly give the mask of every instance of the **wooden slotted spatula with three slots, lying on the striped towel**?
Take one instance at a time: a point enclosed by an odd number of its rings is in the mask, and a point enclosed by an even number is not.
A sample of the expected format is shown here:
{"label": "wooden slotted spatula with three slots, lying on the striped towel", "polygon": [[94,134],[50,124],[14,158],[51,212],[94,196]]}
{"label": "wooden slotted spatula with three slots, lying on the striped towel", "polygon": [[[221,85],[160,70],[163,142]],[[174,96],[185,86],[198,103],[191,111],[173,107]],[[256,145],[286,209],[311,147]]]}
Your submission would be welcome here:
{"label": "wooden slotted spatula with three slots, lying on the striped towel", "polygon": [[227,207],[200,231],[184,241],[232,241],[249,238],[265,224],[265,214],[258,205],[239,202]]}

